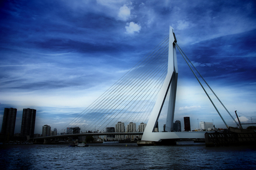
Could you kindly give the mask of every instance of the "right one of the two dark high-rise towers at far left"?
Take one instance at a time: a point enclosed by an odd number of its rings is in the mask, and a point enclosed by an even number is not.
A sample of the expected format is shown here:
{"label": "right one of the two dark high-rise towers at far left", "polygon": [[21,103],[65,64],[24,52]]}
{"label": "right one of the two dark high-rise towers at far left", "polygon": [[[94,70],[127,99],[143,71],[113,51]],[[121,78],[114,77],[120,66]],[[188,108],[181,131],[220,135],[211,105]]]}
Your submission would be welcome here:
{"label": "right one of the two dark high-rise towers at far left", "polygon": [[21,136],[34,136],[36,122],[35,109],[23,109],[22,122],[21,122]]}

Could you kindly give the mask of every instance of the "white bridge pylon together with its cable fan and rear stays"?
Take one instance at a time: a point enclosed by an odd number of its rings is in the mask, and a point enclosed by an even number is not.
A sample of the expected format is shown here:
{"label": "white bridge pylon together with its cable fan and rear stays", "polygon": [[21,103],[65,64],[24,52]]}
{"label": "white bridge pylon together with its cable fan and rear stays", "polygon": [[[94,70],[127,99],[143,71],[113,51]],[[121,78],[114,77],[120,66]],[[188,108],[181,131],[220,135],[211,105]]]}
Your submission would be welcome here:
{"label": "white bridge pylon together with its cable fan and rear stays", "polygon": [[[172,138],[204,138],[205,132],[200,131],[173,132],[178,81],[176,48],[183,55],[196,79],[199,81],[197,75],[203,79],[198,70],[196,70],[178,46],[174,30],[170,27],[168,37],[144,56],[139,63],[116,81],[114,85],[92,102],[90,106],[83,110],[63,129],[67,127],[78,127],[81,133],[87,133],[89,131],[102,133],[104,131],[106,132],[107,127],[115,127],[117,122],[124,122],[125,125],[133,122],[136,125],[146,123],[142,141],[161,141]],[[204,79],[203,81],[215,95],[206,81]],[[200,85],[203,87],[201,83]],[[228,127],[204,87],[203,90]],[[215,95],[215,97],[219,100],[218,96]],[[222,102],[220,100],[219,102],[234,120]],[[168,107],[168,110],[163,114],[164,105]],[[165,132],[155,131],[161,114],[166,117]],[[234,122],[237,123],[235,120]],[[238,123],[237,125],[239,126]]]}

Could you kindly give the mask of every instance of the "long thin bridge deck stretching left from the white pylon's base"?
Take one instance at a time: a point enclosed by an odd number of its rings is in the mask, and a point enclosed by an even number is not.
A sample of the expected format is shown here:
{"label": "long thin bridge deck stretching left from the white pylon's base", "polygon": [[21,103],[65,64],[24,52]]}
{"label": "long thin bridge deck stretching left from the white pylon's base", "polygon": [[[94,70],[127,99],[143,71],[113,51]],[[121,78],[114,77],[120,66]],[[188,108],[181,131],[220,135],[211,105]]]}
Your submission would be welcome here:
{"label": "long thin bridge deck stretching left from the white pylon's base", "polygon": [[75,136],[106,136],[106,135],[143,135],[143,132],[75,133],[75,134],[66,134],[66,135],[35,137],[35,138],[31,138],[31,140],[47,140],[47,139],[53,139],[53,138],[66,138],[66,137],[75,137]]}

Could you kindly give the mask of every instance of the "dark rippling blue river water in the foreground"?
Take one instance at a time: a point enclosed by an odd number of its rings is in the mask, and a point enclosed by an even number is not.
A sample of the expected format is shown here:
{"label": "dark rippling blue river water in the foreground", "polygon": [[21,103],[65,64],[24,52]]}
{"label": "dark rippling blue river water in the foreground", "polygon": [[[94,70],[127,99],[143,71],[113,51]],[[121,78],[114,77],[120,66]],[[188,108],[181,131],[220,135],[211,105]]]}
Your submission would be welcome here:
{"label": "dark rippling blue river water in the foreground", "polygon": [[256,147],[1,145],[0,153],[1,169],[256,169]]}

